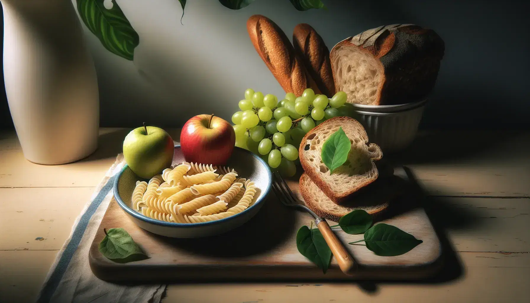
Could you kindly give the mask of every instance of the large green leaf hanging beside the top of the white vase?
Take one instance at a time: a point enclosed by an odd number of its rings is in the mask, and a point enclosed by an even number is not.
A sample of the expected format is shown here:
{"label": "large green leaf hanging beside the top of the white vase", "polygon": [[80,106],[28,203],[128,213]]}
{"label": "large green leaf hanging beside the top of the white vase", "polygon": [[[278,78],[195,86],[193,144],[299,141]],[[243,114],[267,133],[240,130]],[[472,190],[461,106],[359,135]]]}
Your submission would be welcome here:
{"label": "large green leaf hanging beside the top of the white vase", "polygon": [[134,49],[139,44],[138,33],[133,29],[121,8],[112,1],[112,8],[104,0],[76,0],[77,11],[86,27],[100,39],[101,44],[120,57],[133,60]]}

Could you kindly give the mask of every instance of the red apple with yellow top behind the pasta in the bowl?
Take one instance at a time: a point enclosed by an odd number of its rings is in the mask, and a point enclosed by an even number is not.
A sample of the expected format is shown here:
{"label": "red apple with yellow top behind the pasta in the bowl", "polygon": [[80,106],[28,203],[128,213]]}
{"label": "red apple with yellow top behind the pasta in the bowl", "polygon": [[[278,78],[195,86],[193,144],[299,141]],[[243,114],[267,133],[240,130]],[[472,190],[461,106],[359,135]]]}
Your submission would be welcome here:
{"label": "red apple with yellow top behind the pasta in the bowl", "polygon": [[180,147],[188,162],[225,165],[234,150],[234,128],[214,115],[188,120],[180,133]]}

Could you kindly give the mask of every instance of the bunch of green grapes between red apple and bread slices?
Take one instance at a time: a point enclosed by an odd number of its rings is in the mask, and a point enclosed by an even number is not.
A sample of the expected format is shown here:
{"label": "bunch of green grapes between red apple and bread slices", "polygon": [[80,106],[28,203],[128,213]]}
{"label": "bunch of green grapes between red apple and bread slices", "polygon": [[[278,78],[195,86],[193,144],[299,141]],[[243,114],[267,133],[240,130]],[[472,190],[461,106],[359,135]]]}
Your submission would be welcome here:
{"label": "bunch of green grapes between red apple and bread slices", "polygon": [[296,174],[298,148],[304,135],[326,119],[341,115],[346,93],[333,98],[306,89],[302,96],[287,93],[278,102],[273,94],[263,96],[253,89],[245,90],[239,101],[241,111],[232,116],[235,146],[260,155],[273,170],[284,176]]}

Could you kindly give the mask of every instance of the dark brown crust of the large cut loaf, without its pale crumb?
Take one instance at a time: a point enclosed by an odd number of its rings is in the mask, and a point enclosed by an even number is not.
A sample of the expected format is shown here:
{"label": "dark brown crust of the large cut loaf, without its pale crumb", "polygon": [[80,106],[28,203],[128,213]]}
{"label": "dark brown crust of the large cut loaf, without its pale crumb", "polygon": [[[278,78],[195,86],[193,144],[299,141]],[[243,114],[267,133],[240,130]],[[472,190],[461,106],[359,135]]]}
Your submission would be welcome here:
{"label": "dark brown crust of the large cut loaf, without its pale crumb", "polygon": [[[356,47],[378,62],[382,74],[373,105],[392,105],[425,98],[436,82],[444,41],[434,30],[414,24],[391,24],[369,29],[340,41],[331,49],[335,89],[344,83],[337,68],[338,50]],[[348,102],[356,103],[348,100]]]}

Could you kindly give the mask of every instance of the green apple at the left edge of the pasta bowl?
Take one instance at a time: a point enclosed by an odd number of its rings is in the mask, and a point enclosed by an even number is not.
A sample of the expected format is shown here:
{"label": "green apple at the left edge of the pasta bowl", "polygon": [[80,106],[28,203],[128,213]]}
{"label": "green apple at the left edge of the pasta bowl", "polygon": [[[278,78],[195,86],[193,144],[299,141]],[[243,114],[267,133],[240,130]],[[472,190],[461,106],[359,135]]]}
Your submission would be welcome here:
{"label": "green apple at the left edge of the pasta bowl", "polygon": [[171,166],[174,145],[162,128],[144,126],[133,129],[123,141],[123,158],[140,178],[150,179]]}

